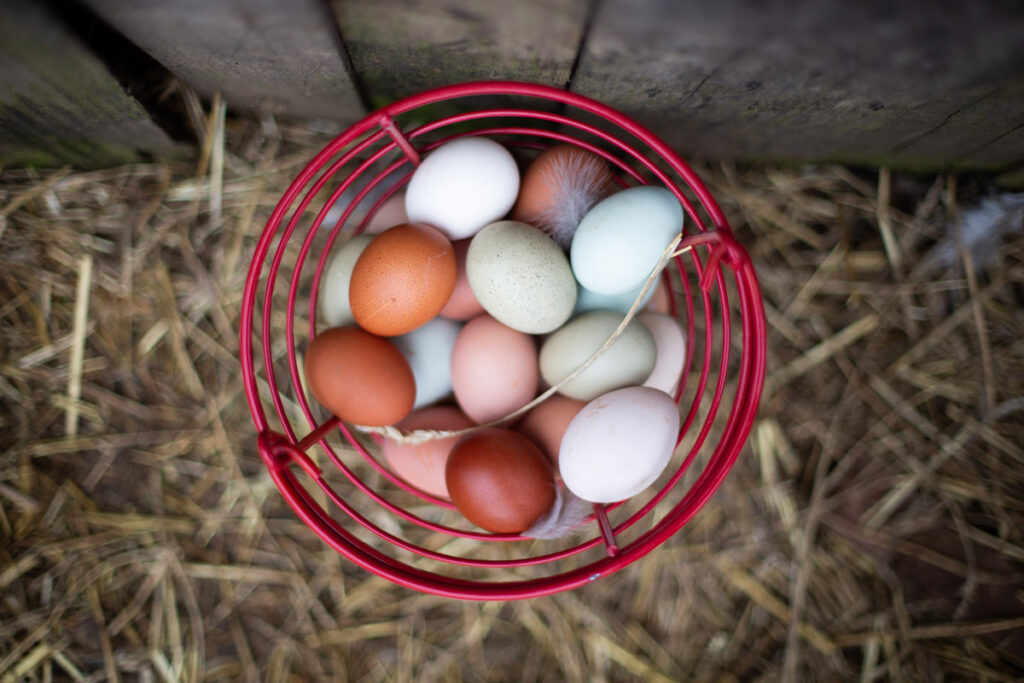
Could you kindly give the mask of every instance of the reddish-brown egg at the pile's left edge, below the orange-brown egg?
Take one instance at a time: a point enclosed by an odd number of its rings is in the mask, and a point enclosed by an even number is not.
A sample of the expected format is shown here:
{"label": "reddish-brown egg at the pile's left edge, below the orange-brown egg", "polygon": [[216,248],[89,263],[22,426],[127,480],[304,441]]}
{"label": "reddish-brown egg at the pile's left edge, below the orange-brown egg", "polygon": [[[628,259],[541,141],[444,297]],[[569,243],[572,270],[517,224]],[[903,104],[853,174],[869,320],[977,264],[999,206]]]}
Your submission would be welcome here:
{"label": "reddish-brown egg at the pile's left edge, below the orange-brown egg", "polygon": [[393,425],[416,399],[413,371],[401,352],[355,326],[316,335],[306,350],[305,376],[316,400],[358,425]]}

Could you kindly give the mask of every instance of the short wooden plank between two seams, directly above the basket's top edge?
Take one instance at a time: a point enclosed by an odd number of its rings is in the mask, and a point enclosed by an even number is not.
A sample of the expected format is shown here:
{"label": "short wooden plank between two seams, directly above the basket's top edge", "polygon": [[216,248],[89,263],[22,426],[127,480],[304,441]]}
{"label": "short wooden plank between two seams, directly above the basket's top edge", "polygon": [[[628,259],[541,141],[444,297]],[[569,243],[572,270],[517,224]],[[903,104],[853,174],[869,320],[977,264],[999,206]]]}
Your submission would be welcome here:
{"label": "short wooden plank between two seams, directly above the basket's top edge", "polygon": [[474,80],[563,87],[587,0],[334,0],[352,66],[374,106]]}

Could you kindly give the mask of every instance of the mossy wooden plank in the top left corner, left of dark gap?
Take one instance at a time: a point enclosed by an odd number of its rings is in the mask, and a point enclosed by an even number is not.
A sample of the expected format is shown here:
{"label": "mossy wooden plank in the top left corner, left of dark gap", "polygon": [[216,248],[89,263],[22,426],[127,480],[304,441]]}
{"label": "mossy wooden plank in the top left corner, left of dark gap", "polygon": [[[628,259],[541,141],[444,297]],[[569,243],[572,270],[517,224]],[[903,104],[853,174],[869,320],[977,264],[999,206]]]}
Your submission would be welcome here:
{"label": "mossy wooden plank in the top left corner, left of dark gap", "polygon": [[176,150],[45,3],[0,0],[0,164],[96,168]]}

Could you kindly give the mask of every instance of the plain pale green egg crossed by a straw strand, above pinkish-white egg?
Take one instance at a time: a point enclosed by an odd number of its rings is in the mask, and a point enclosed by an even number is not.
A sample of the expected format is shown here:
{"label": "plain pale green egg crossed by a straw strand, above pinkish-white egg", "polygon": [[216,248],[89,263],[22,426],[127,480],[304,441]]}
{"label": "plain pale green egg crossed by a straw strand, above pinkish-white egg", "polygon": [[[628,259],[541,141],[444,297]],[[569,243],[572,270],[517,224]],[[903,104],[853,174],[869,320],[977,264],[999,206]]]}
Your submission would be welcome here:
{"label": "plain pale green egg crossed by a straw strand, above pinkish-white egg", "polygon": [[[587,361],[623,322],[623,314],[593,310],[569,321],[541,346],[541,377],[554,386]],[[640,384],[654,368],[654,339],[638,321],[630,321],[593,364],[558,392],[577,400],[591,400],[618,387]]]}

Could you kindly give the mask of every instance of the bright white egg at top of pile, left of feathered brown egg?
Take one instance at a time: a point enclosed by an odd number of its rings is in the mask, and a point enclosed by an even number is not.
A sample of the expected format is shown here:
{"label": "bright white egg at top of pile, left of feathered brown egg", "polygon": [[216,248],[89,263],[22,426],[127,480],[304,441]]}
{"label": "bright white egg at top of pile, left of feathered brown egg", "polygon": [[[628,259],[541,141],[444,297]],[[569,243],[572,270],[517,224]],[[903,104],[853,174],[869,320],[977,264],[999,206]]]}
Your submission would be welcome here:
{"label": "bright white egg at top of pile, left of feathered brown egg", "polygon": [[413,173],[406,213],[462,240],[505,216],[518,194],[519,168],[508,150],[486,137],[460,137],[428,154]]}

